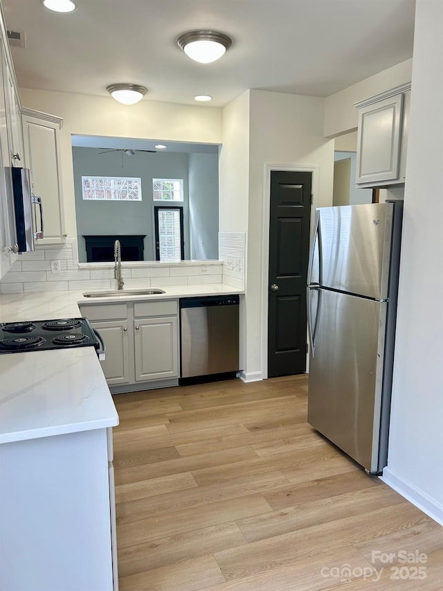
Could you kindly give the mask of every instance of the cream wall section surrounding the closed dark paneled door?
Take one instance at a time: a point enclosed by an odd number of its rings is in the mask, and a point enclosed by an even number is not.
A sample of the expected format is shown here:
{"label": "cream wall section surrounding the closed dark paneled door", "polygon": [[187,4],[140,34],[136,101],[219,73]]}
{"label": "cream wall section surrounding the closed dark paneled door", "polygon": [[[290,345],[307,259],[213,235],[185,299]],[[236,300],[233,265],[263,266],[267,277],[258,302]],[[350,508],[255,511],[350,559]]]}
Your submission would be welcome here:
{"label": "cream wall section surrounding the closed dark paneled door", "polygon": [[[246,275],[246,377],[264,368],[264,334],[267,318],[267,244],[269,220],[264,222],[266,164],[318,166],[316,206],[332,204],[334,141],[323,137],[324,99],[277,92],[251,91],[250,158]],[[262,267],[264,265],[264,267]],[[265,310],[263,308],[265,306]]]}

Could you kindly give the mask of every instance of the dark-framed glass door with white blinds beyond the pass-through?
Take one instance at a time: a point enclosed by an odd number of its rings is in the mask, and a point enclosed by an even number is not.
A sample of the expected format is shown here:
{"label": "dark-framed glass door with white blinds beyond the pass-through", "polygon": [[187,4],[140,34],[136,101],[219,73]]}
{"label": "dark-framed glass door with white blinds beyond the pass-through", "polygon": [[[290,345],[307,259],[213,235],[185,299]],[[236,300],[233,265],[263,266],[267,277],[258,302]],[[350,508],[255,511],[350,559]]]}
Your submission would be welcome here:
{"label": "dark-framed glass door with white blinds beyond the pass-through", "polygon": [[183,208],[154,207],[156,261],[183,261]]}

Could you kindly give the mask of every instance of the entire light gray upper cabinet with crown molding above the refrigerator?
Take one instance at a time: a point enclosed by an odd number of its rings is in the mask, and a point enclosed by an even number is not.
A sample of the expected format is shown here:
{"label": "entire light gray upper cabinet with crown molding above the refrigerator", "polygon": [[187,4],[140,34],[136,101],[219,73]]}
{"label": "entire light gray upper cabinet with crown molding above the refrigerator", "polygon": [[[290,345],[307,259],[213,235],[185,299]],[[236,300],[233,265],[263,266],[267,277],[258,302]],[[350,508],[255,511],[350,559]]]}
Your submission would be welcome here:
{"label": "entire light gray upper cabinet with crown molding above the refrigerator", "polygon": [[403,184],[410,84],[372,96],[359,109],[356,184],[360,187]]}

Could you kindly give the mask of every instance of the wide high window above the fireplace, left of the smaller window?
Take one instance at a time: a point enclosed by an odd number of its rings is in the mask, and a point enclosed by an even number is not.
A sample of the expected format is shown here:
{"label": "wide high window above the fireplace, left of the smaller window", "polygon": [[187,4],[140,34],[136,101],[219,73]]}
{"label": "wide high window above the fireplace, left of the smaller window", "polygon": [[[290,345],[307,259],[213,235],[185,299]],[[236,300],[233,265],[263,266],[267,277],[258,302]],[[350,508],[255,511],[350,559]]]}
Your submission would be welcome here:
{"label": "wide high window above the fireplace, left of the smaller window", "polygon": [[141,201],[141,179],[136,177],[82,177],[84,200]]}

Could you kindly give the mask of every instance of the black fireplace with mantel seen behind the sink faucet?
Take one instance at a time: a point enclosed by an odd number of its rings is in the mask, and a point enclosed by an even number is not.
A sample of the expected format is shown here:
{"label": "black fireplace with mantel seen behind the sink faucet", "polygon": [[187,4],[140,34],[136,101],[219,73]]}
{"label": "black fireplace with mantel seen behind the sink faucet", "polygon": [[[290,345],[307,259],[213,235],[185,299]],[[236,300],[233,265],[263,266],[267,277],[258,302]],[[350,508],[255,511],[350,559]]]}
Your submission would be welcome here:
{"label": "black fireplace with mantel seen behind the sink faucet", "polygon": [[83,236],[88,263],[114,261],[114,242],[120,240],[122,261],[143,261],[143,236]]}

